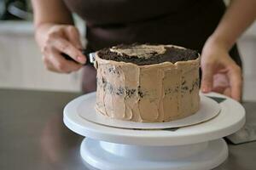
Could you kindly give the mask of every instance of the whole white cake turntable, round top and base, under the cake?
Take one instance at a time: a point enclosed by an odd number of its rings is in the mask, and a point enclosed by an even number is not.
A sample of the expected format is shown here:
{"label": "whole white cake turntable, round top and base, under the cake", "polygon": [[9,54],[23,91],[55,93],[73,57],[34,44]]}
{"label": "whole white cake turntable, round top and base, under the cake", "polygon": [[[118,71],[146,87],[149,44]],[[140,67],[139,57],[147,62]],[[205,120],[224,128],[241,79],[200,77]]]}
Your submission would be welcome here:
{"label": "whole white cake turntable, round top and base, under the cake", "polygon": [[[112,127],[81,116],[79,108],[84,102],[93,101],[95,95],[85,94],[73,99],[64,109],[63,120],[73,132],[86,137],[80,154],[96,169],[209,170],[228,157],[228,147],[222,138],[235,133],[245,123],[245,110],[238,102],[211,93],[207,96],[225,100],[218,105],[221,108],[218,115],[207,121],[162,129]],[[84,112],[93,110],[93,107],[87,108]]]}

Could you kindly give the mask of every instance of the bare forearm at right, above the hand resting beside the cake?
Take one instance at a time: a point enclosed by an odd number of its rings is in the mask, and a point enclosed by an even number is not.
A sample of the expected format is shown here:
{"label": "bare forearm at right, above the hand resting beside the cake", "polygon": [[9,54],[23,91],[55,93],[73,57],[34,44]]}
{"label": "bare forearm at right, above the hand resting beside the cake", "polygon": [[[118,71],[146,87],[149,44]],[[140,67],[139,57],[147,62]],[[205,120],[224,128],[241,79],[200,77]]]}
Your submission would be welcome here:
{"label": "bare forearm at right, above the hand resting beside the cake", "polygon": [[233,0],[210,37],[230,50],[236,39],[256,19],[256,0]]}

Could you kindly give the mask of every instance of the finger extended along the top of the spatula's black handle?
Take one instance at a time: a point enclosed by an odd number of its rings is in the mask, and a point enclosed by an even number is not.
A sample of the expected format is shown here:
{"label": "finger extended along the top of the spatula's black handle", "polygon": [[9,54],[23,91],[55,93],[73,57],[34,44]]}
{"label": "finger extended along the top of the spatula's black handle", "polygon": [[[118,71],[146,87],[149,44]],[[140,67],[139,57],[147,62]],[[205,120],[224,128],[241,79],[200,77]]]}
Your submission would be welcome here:
{"label": "finger extended along the top of the spatula's black handle", "polygon": [[55,40],[54,48],[61,53],[67,54],[80,64],[84,64],[86,62],[84,54],[82,54],[78,48],[75,48],[72,43],[68,42],[62,37],[59,37]]}

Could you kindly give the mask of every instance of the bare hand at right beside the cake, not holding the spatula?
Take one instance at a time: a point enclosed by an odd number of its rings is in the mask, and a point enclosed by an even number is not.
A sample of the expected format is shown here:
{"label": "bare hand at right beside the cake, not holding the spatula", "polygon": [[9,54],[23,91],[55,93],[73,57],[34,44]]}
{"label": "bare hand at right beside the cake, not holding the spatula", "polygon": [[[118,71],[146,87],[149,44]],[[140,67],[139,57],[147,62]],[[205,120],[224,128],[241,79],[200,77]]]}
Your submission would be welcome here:
{"label": "bare hand at right beside the cake, not holding the spatula", "polygon": [[240,101],[241,67],[231,59],[228,51],[221,41],[211,37],[207,40],[201,54],[201,91],[217,92]]}

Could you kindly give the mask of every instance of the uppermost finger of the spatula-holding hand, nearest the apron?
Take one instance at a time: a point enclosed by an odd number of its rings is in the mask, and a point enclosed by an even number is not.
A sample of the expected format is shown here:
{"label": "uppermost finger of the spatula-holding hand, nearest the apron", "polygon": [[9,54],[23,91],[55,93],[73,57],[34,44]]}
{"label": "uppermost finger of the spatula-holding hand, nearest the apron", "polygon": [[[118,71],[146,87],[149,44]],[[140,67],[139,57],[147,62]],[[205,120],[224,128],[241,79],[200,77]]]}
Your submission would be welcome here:
{"label": "uppermost finger of the spatula-holding hand, nearest the apron", "polygon": [[79,31],[76,27],[68,26],[67,29],[65,29],[65,34],[69,42],[71,42],[74,47],[83,49],[82,43],[80,41]]}

